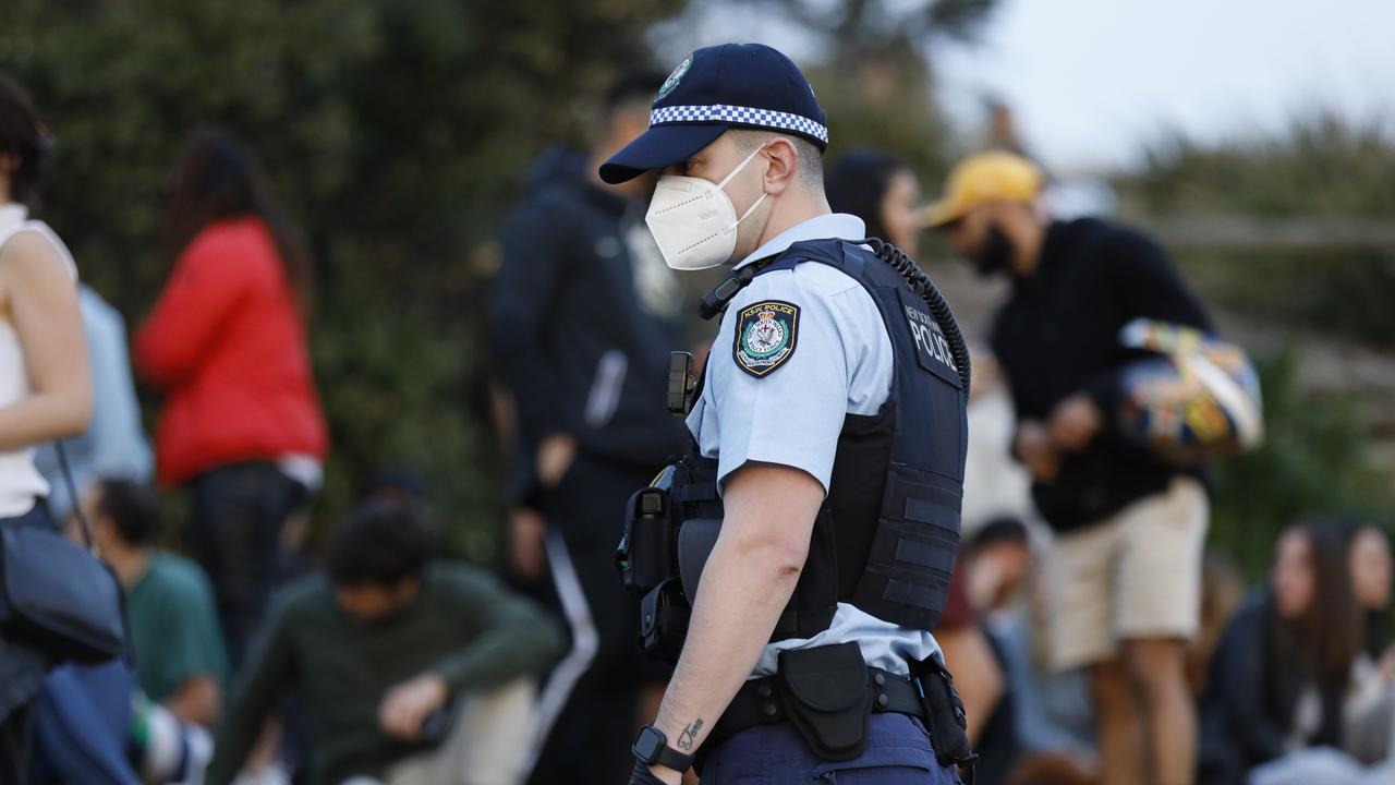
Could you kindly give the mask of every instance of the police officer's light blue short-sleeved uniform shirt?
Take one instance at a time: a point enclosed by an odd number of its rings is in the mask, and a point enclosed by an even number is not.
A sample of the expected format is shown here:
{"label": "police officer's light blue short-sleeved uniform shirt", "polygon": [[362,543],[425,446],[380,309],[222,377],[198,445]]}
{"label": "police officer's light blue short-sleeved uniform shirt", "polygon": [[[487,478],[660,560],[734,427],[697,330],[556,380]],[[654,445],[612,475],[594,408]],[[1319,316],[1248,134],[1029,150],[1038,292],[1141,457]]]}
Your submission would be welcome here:
{"label": "police officer's light blue short-sleeved uniform shirt", "polygon": [[[865,232],[852,215],[820,215],[780,233],[737,267],[802,240],[859,240]],[[731,346],[737,314],[762,300],[799,306],[799,323],[790,359],[756,379],[737,367]],[[766,272],[728,303],[688,429],[702,454],[717,460],[718,487],[748,461],[759,461],[802,469],[827,493],[844,416],[875,415],[891,391],[893,372],[891,338],[882,313],[852,277],[817,263]],[[939,655],[930,633],[898,627],[840,602],[827,630],[767,645],[752,677],[774,673],[781,650],[852,640],[868,665],[901,675],[908,673],[907,661]]]}

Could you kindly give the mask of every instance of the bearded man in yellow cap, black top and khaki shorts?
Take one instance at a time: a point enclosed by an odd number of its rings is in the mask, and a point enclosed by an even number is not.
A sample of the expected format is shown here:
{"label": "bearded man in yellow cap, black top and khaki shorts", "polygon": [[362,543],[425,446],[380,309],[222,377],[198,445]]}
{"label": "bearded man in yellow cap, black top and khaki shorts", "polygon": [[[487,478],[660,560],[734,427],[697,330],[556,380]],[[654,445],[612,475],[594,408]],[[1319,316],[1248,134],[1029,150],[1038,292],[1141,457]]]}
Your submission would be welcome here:
{"label": "bearded man in yellow cap, black top and khaki shorts", "polygon": [[[983,152],[954,168],[926,221],[983,275],[1007,274],[992,348],[1017,409],[1013,454],[1050,524],[1050,654],[1088,668],[1105,785],[1193,781],[1183,670],[1197,633],[1208,499],[1193,471],[1120,439],[1113,412],[1144,317],[1209,331],[1162,249],[1094,218],[1050,221],[1042,175]],[[1144,746],[1140,747],[1140,743]]]}

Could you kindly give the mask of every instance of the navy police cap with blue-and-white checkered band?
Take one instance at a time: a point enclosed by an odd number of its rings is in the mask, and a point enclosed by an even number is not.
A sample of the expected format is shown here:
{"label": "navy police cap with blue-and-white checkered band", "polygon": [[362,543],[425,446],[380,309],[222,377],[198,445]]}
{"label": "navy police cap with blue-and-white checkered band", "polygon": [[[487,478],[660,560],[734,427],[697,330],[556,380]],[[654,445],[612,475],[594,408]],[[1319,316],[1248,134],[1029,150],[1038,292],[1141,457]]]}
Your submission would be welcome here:
{"label": "navy police cap with blue-and-white checkered band", "polygon": [[780,131],[829,145],[827,116],[799,67],[763,43],[707,46],[688,56],[658,89],[649,130],[601,163],[601,180],[624,183],[672,166],[727,129]]}

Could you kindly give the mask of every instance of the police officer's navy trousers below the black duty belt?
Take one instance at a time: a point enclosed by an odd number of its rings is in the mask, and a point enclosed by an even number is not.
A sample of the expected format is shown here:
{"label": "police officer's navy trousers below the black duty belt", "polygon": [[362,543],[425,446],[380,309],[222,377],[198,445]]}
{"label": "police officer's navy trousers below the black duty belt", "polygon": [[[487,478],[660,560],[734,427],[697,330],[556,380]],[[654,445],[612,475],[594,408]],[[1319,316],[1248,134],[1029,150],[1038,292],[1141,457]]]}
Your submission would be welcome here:
{"label": "police officer's navy trousers below the black duty belt", "polygon": [[850,761],[820,760],[788,722],[737,733],[717,747],[702,771],[703,785],[956,785],[953,767],[935,760],[919,719],[873,714],[868,749]]}

